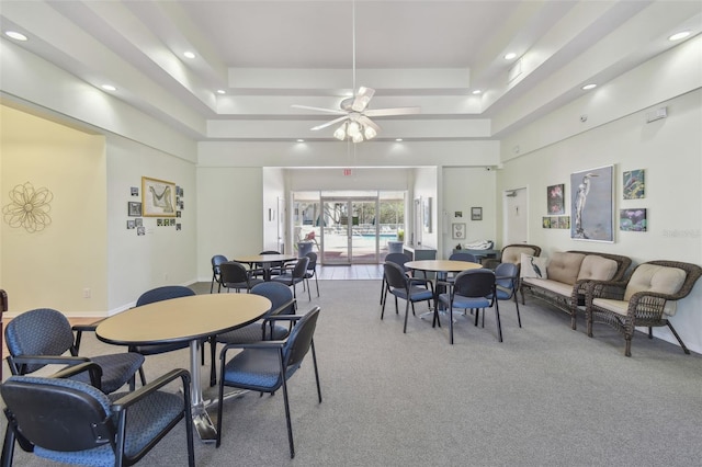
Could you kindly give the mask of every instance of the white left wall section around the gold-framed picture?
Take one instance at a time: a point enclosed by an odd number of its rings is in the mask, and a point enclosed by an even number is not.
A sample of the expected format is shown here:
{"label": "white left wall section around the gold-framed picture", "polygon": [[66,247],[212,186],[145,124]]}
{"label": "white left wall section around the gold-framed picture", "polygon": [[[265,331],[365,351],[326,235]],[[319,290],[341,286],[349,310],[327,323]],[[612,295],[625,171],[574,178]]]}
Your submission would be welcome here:
{"label": "white left wall section around the gold-framed picture", "polygon": [[[110,312],[133,306],[141,293],[161,285],[189,285],[195,275],[197,185],[193,163],[129,139],[107,136],[107,284]],[[141,201],[141,176],[166,180],[183,189],[183,209],[176,223],[157,226],[141,217],[145,236],[127,229],[127,203]],[[139,196],[131,189],[139,189]],[[169,219],[170,220],[170,219]]]}

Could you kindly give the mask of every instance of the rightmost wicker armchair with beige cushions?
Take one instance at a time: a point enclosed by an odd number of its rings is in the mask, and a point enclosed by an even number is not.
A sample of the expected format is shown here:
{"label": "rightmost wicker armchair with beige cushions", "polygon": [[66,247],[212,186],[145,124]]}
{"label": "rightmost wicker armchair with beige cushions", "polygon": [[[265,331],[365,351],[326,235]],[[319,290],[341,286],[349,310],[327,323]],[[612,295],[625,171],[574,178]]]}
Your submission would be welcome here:
{"label": "rightmost wicker armchair with beige cushions", "polygon": [[588,335],[592,337],[593,322],[611,326],[624,335],[624,355],[631,356],[635,327],[648,327],[653,339],[653,327],[667,326],[689,354],[668,318],[675,315],[675,301],[690,294],[700,275],[702,267],[697,264],[649,261],[625,281],[591,282],[586,294]]}

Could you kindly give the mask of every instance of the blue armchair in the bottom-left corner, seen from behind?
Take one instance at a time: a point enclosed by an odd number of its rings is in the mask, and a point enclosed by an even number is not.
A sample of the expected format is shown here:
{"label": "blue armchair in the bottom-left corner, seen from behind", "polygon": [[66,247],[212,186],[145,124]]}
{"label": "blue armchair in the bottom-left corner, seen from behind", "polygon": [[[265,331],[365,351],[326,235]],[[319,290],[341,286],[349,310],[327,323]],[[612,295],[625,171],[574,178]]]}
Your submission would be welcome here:
{"label": "blue armchair in the bottom-left corner, seen from behind", "polygon": [[[99,368],[83,363],[55,377],[12,376],[0,386],[8,418],[3,466],[12,465],[15,441],[24,451],[57,463],[133,465],[183,419],[188,465],[195,465],[190,373],[173,369],[133,392],[110,396],[87,383],[58,377]],[[159,390],[176,379],[182,381],[182,394]]]}

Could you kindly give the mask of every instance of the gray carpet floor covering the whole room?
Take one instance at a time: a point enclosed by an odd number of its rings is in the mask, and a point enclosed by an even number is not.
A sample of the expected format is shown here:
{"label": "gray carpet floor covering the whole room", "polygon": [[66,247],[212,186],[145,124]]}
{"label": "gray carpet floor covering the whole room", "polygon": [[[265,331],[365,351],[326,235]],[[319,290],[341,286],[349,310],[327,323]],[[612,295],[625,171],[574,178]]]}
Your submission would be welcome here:
{"label": "gray carpet floor covering the whole room", "polygon": [[[309,361],[291,379],[296,457],[287,451],[282,394],[226,401],[223,445],[196,440],[199,466],[699,466],[702,459],[702,356],[637,334],[633,356],[604,326],[535,299],[501,303],[505,342],[494,312],[485,328],[409,318],[388,303],[380,320],[380,281],[320,281],[315,340],[324,401]],[[208,284],[199,284],[199,292]],[[427,310],[417,305],[417,314]],[[94,337],[82,352],[109,352]],[[208,368],[208,358],[207,366]],[[186,367],[185,351],[147,357],[147,377]],[[203,376],[207,374],[203,372]],[[203,380],[203,385],[206,381]],[[210,390],[206,391],[206,394]],[[16,466],[49,465],[16,449]],[[140,465],[185,463],[181,425]]]}

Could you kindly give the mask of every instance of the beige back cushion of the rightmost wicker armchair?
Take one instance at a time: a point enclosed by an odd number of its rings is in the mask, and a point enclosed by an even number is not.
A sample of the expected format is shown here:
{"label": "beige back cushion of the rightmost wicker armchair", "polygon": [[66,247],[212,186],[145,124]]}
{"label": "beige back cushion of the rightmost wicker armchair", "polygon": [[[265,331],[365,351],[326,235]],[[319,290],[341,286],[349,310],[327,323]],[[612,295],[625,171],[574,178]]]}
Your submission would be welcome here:
{"label": "beige back cushion of the rightmost wicker armchair", "polygon": [[[638,292],[655,292],[666,295],[677,294],[682,287],[686,277],[687,273],[678,267],[647,263],[639,264],[629,280],[624,292],[624,300],[629,301],[632,295]],[[668,316],[675,315],[676,303],[666,303],[664,312]]]}

